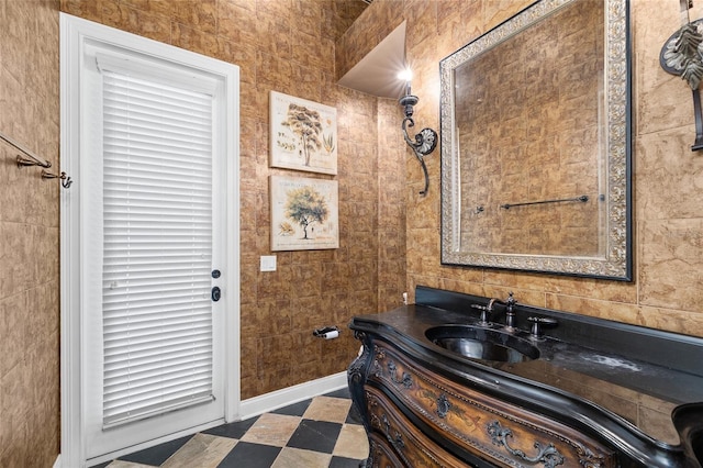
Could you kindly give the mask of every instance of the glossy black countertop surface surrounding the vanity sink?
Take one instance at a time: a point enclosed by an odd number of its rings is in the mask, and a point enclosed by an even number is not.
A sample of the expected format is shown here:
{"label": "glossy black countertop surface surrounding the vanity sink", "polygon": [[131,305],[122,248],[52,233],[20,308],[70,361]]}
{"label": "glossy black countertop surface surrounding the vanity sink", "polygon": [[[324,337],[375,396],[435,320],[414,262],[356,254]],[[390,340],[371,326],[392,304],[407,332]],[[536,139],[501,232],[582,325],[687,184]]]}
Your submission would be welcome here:
{"label": "glossy black countertop surface surrounding the vanity sink", "polygon": [[[517,312],[521,314],[520,310]],[[534,312],[535,310],[529,311],[529,313]],[[352,327],[390,331],[400,341],[412,342],[423,348],[437,363],[444,361],[444,365],[467,376],[488,371],[483,375],[493,374],[535,385],[546,391],[560,393],[565,398],[594,405],[617,424],[627,430],[640,431],[643,437],[650,438],[657,445],[678,446],[680,439],[672,423],[671,412],[684,403],[703,402],[703,360],[698,360],[696,356],[688,356],[690,353],[687,352],[687,346],[692,347],[691,349],[695,353],[703,352],[703,339],[683,337],[682,341],[677,341],[672,345],[673,350],[663,349],[669,347],[667,338],[674,335],[661,336],[659,332],[652,332],[656,339],[651,338],[643,344],[639,343],[640,327],[616,327],[615,333],[603,333],[603,328],[599,327],[606,327],[607,321],[587,320],[585,323],[578,323],[578,317],[565,319],[561,316],[563,313],[556,312],[556,314],[565,323],[557,325],[555,333],[547,330],[544,341],[531,339],[526,323],[520,326],[523,330],[513,333],[517,338],[539,349],[537,359],[520,363],[464,357],[434,344],[426,337],[427,330],[435,326],[447,324],[480,326],[478,325],[479,312],[470,308],[442,309],[426,304],[405,305],[386,313],[356,316]],[[547,312],[543,315],[554,315],[554,313]],[[493,320],[495,322],[493,327],[501,331],[499,317]],[[573,323],[570,322],[571,320]],[[561,330],[556,333],[560,326],[562,328],[578,326],[579,330],[577,332]],[[595,326],[594,331],[587,331],[588,327],[593,326]],[[569,337],[579,334],[587,338],[568,341]],[[595,336],[598,334],[603,336],[603,347],[599,346],[598,336]],[[645,335],[648,336],[646,333]],[[645,353],[647,359],[638,359],[632,356],[632,350],[636,350],[638,346],[648,348],[660,346],[661,349],[650,349],[651,354]],[[618,353],[621,349],[623,353]],[[631,350],[631,355],[627,349]],[[687,358],[682,359],[685,365],[681,363],[667,365],[662,361],[662,356],[673,354],[676,357],[676,353],[687,354]],[[649,356],[659,357],[649,358]]]}

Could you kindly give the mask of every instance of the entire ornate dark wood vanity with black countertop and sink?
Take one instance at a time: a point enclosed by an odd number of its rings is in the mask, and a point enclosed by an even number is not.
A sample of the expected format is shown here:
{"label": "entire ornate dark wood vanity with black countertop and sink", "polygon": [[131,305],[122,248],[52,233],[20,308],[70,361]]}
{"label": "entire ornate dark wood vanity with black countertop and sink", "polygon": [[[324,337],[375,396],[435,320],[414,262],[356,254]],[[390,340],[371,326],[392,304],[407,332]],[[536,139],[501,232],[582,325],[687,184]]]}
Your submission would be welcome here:
{"label": "entire ornate dark wood vanity with black countertop and sink", "polygon": [[367,468],[701,467],[703,338],[520,303],[507,332],[487,298],[415,298],[350,324]]}

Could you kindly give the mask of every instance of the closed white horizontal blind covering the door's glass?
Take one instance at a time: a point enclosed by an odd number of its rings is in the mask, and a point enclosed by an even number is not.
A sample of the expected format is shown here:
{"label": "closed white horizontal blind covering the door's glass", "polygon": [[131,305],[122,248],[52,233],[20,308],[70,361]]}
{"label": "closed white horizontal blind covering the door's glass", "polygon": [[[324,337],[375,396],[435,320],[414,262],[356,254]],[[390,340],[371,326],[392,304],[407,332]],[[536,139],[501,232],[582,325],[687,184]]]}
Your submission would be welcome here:
{"label": "closed white horizontal blind covering the door's glass", "polygon": [[103,76],[103,426],[212,399],[212,97]]}

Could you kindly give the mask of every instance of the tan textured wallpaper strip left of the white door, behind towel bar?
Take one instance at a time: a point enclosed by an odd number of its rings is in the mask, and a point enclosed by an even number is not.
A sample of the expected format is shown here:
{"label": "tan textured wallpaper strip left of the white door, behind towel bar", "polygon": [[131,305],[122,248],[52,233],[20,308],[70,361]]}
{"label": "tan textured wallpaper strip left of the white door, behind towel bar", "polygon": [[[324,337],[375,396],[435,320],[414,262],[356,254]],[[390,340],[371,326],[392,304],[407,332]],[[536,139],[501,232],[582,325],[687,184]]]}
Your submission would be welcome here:
{"label": "tan textured wallpaper strip left of the white door, behind towel bar", "polygon": [[[58,165],[58,0],[0,0],[0,132]],[[59,452],[58,182],[0,141],[0,467]]]}

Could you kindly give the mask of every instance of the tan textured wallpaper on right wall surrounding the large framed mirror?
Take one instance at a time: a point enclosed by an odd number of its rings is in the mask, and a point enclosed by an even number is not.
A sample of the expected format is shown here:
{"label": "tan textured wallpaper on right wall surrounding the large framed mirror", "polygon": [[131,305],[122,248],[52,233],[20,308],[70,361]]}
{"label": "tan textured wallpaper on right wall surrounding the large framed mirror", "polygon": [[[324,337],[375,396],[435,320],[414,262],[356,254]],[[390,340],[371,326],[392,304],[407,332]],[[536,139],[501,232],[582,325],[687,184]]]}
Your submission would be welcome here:
{"label": "tan textured wallpaper on right wall surrounding the large framed mirror", "polygon": [[[529,0],[376,1],[341,47],[371,49],[360,34],[379,22],[408,20],[408,58],[421,125],[438,127],[438,63],[531,3]],[[433,189],[425,199],[406,190],[408,288],[426,285],[488,297],[514,291],[520,302],[703,336],[703,155],[692,153],[691,91],[659,66],[665,41],[680,27],[678,2],[632,0],[634,271],[633,282],[439,264],[439,160],[427,158]],[[703,16],[695,3],[691,19]],[[367,24],[361,24],[361,21]],[[372,37],[369,37],[371,41]],[[353,53],[350,53],[353,54]],[[344,63],[344,59],[337,59]],[[422,175],[409,157],[408,178]]]}

